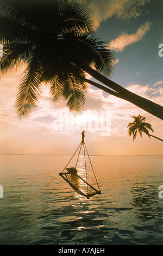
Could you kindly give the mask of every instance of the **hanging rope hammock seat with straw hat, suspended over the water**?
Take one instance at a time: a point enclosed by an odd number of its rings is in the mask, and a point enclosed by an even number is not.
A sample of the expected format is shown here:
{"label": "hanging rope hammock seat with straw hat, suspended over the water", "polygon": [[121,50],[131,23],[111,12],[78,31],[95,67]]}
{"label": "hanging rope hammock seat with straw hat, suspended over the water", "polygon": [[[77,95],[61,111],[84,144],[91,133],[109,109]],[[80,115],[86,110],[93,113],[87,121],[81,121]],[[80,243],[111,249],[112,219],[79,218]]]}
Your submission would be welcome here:
{"label": "hanging rope hammock seat with straw hat, suspended over the water", "polygon": [[[83,99],[84,99],[84,96],[83,96]],[[83,111],[84,111],[84,100],[83,100]],[[83,125],[83,128],[84,128],[84,125]],[[87,199],[90,199],[90,197],[93,197],[96,194],[101,194],[101,191],[99,189],[99,185],[98,185],[98,182],[97,182],[97,179],[96,179],[95,172],[93,170],[93,166],[92,166],[92,163],[91,163],[91,160],[90,160],[90,156],[89,156],[89,153],[88,153],[86,145],[85,145],[84,137],[85,137],[85,131],[83,130],[82,131],[82,141],[80,142],[78,148],[76,149],[76,151],[72,155],[71,159],[66,164],[64,170],[62,170],[62,172],[59,173],[59,175],[73,188],[74,191],[76,191],[77,193],[86,197]],[[77,174],[78,173],[77,164],[78,164],[78,160],[79,160],[79,156],[80,156],[82,147],[83,147],[83,152],[84,152],[84,165],[85,165],[86,180]],[[78,151],[79,151],[79,153],[78,153],[78,157],[77,157],[75,167],[68,167],[68,165],[70,164],[72,159],[76,156]],[[89,159],[89,163],[90,163],[92,172],[95,176],[96,185],[97,185],[98,188],[95,188],[94,186],[90,185],[88,180],[87,180],[86,154],[87,154],[87,157]]]}

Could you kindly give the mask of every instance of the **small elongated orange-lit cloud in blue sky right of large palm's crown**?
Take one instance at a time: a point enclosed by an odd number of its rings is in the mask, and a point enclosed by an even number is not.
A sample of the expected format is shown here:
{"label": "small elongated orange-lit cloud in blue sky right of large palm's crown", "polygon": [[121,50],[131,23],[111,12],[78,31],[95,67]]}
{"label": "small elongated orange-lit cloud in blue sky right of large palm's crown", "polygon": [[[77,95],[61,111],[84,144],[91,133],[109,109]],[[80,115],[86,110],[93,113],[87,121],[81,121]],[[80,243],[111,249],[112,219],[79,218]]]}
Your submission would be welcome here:
{"label": "small elongated orange-lit cloud in blue sky right of large palm's crown", "polygon": [[150,30],[151,22],[143,23],[136,31],[135,34],[127,34],[122,33],[118,38],[112,40],[109,44],[109,47],[112,50],[116,50],[117,52],[122,52],[124,48],[128,45],[133,44],[134,42],[142,40],[143,36]]}

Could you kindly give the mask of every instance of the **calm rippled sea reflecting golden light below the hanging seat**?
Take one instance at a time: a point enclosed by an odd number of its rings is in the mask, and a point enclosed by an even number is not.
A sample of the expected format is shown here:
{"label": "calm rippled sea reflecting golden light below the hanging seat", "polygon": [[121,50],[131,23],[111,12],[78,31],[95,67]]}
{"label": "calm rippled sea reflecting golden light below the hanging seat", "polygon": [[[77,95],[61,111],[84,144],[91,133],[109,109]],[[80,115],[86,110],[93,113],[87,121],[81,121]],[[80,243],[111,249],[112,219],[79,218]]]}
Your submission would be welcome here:
{"label": "calm rippled sea reflecting golden light below the hanging seat", "polygon": [[91,156],[91,199],[58,175],[70,156],[0,159],[0,245],[163,245],[162,156]]}

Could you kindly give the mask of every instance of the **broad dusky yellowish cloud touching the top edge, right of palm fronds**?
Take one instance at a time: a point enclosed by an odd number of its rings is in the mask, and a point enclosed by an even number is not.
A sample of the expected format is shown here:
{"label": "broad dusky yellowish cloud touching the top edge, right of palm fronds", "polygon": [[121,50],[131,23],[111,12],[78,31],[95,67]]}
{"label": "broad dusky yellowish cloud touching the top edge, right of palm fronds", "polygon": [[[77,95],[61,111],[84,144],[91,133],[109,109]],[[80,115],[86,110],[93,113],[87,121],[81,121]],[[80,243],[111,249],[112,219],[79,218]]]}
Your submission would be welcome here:
{"label": "broad dusky yellowish cloud touching the top edge, right of palm fronds", "polygon": [[116,17],[122,21],[129,21],[131,18],[142,14],[142,7],[145,7],[150,0],[77,0],[89,6],[95,13],[98,23]]}

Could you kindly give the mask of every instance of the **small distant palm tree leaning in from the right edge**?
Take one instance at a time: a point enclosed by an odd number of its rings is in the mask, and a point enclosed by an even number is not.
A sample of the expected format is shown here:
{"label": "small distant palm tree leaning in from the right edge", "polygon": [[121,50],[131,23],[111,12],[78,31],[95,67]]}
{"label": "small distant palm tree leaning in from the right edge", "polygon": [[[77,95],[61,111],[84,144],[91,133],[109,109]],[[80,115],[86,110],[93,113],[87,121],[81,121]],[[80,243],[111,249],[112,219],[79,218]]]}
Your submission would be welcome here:
{"label": "small distant palm tree leaning in from the right edge", "polygon": [[135,141],[137,133],[139,133],[140,137],[142,138],[143,132],[145,132],[149,138],[154,137],[156,139],[159,139],[160,141],[163,141],[162,139],[149,134],[148,130],[151,130],[152,132],[154,131],[152,129],[151,124],[145,122],[146,117],[142,117],[141,115],[137,115],[136,117],[135,115],[133,115],[132,118],[134,118],[133,123],[129,123],[127,127],[129,136],[133,135],[133,141]]}

